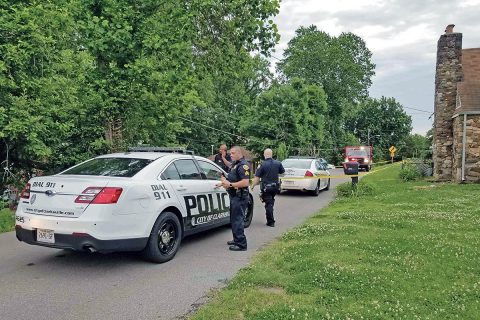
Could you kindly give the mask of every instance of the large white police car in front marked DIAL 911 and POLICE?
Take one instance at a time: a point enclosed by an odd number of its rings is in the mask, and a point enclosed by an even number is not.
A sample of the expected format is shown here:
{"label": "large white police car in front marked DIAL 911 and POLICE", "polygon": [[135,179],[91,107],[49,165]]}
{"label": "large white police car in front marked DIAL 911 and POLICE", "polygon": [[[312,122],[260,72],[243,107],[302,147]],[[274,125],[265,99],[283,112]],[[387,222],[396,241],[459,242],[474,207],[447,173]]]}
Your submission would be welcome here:
{"label": "large white police car in front marked DIAL 911 and POLICE", "polygon": [[[182,238],[230,223],[216,187],[225,172],[183,149],[133,148],[31,179],[16,212],[18,240],[90,252],[143,251],[161,263]],[[250,195],[245,227],[253,217]]]}

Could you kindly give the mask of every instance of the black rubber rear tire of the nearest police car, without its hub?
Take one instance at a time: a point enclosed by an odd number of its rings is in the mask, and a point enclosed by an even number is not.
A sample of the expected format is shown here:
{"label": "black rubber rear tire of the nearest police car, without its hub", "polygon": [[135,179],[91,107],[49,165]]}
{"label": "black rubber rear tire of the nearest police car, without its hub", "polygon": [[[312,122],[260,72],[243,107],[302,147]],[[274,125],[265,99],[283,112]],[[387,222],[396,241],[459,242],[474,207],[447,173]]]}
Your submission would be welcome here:
{"label": "black rubber rear tire of the nearest police car, without its hub", "polygon": [[[160,250],[160,232],[161,228],[168,226],[170,228],[175,229],[175,236],[172,239],[174,242],[173,247],[168,250],[168,252],[162,252]],[[150,237],[148,238],[147,246],[143,250],[143,256],[155,263],[164,263],[167,262],[175,256],[180,247],[180,243],[182,241],[182,225],[178,220],[178,217],[172,213],[165,211],[163,212],[155,221],[153,225],[152,232],[150,233]]]}

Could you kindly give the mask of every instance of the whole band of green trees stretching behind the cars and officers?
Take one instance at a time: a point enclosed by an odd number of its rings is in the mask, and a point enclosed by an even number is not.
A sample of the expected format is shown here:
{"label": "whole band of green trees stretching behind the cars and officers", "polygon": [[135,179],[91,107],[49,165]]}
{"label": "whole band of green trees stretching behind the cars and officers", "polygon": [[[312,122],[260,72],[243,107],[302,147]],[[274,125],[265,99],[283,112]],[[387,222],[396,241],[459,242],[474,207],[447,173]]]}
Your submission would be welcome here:
{"label": "whole band of green trees stretching behind the cars and officers", "polygon": [[368,98],[375,66],[353,33],[300,27],[271,72],[278,11],[278,0],[0,0],[1,159],[8,148],[17,169],[54,172],[127,146],[207,155],[227,143],[335,161],[365,130],[381,148],[403,141],[411,120],[394,99]]}

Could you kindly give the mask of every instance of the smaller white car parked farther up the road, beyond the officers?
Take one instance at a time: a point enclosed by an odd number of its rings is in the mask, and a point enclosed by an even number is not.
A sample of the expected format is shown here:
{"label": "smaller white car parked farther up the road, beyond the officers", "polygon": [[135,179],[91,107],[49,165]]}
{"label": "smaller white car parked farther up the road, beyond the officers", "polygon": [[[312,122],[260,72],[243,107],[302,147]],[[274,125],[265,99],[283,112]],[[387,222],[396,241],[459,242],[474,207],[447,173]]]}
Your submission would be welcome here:
{"label": "smaller white car parked farther up the road, beyond the officers", "polygon": [[292,157],[282,161],[285,174],[281,190],[301,190],[318,196],[321,190],[330,189],[330,172],[320,159]]}

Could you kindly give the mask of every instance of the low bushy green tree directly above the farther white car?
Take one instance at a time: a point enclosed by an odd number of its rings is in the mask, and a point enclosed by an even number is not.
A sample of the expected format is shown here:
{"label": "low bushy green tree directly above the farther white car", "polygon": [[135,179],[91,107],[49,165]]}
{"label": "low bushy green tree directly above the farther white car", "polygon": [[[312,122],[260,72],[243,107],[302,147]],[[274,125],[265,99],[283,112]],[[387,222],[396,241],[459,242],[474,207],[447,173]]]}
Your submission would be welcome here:
{"label": "low bushy green tree directly above the farther white car", "polygon": [[322,88],[301,79],[274,83],[248,108],[242,132],[251,137],[249,147],[258,153],[284,143],[294,154],[313,154],[323,141],[326,112]]}

